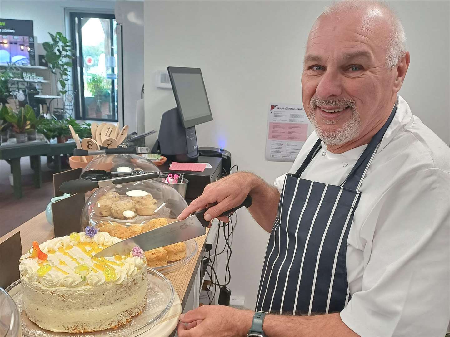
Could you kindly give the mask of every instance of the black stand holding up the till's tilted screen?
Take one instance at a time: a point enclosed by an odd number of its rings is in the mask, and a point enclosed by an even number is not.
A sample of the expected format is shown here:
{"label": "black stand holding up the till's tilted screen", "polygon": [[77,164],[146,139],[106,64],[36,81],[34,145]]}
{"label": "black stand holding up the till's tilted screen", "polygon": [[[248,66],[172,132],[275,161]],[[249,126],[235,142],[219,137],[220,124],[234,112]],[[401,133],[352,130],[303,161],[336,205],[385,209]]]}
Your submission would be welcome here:
{"label": "black stand holding up the till's tilted screen", "polygon": [[170,109],[162,114],[158,140],[153,147],[168,160],[190,162],[198,160],[197,135],[195,126],[185,128],[178,108]]}

